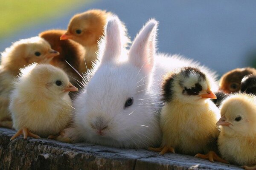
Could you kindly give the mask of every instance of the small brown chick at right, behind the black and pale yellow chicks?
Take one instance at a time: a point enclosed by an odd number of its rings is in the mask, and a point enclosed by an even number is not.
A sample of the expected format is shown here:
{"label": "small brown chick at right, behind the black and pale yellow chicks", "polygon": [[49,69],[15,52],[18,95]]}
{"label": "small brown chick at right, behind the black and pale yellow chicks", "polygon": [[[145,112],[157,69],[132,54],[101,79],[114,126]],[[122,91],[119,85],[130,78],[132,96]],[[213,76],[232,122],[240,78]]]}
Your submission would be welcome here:
{"label": "small brown chick at right, behind the black and pale yellow chicks", "polygon": [[256,74],[256,69],[249,67],[236,68],[221,77],[219,86],[225,93],[238,92],[241,88],[241,80],[249,74]]}

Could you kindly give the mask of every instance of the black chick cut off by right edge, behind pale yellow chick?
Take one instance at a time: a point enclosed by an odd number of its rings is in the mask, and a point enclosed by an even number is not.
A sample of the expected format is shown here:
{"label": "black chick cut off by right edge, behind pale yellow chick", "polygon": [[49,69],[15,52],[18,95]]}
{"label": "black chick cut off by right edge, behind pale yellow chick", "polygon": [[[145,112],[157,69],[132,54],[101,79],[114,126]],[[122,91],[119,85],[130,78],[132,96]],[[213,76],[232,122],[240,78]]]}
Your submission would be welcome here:
{"label": "black chick cut off by right edge, behind pale yellow chick", "polygon": [[242,79],[241,92],[256,95],[256,75],[250,74]]}

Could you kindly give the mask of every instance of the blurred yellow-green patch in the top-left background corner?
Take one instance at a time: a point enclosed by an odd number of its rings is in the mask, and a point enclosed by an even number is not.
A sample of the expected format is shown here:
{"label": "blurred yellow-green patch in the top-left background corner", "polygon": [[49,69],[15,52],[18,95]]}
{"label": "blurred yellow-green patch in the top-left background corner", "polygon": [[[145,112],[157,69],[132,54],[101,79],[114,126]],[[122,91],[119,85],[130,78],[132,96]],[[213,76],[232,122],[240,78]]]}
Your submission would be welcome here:
{"label": "blurred yellow-green patch in the top-left background corner", "polygon": [[79,7],[89,0],[0,0],[0,39],[31,22],[61,16],[66,10]]}

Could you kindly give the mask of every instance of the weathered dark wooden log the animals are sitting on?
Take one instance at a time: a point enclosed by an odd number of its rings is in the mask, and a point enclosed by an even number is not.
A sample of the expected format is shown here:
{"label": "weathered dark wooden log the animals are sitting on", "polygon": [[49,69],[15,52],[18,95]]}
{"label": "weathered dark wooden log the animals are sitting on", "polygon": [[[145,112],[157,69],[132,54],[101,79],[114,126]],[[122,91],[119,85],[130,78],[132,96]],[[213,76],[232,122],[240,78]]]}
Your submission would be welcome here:
{"label": "weathered dark wooden log the animals are sitting on", "polygon": [[236,170],[192,156],[148,150],[118,149],[89,143],[67,144],[49,139],[10,142],[14,130],[0,128],[1,170]]}

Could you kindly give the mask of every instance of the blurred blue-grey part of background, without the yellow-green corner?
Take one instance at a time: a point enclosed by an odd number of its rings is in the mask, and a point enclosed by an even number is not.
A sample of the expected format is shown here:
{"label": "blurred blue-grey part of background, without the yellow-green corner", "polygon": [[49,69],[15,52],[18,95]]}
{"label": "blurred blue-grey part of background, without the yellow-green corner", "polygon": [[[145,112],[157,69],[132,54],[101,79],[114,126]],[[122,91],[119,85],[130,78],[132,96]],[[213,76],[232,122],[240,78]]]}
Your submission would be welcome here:
{"label": "blurred blue-grey part of background, without the yellow-green corner", "polygon": [[247,66],[248,54],[256,51],[255,0],[98,0],[65,11],[49,22],[29,25],[0,42],[0,51],[21,38],[41,31],[66,29],[70,18],[90,8],[112,11],[124,21],[131,39],[149,18],[160,22],[158,51],[196,59],[223,74]]}

